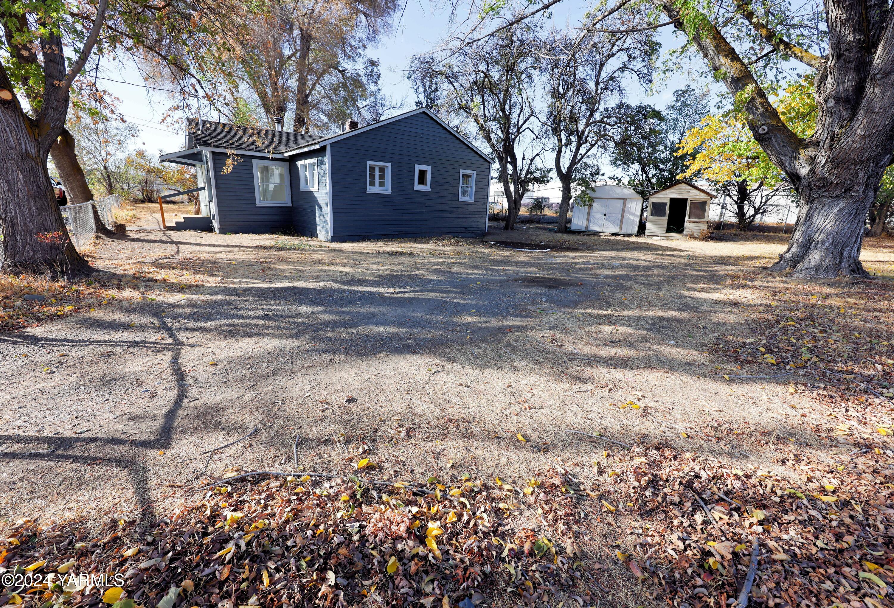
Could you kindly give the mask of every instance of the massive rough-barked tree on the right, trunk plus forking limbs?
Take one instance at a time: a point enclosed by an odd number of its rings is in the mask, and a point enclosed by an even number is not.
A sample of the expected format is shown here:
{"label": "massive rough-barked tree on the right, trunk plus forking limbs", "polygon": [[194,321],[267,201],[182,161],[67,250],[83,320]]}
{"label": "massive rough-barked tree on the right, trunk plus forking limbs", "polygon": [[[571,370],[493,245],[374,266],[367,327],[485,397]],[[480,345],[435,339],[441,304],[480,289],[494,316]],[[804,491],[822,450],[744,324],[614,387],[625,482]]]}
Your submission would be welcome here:
{"label": "massive rough-barked tree on the right, trunk plus forking limbs", "polygon": [[800,139],[704,14],[674,0],[654,2],[678,20],[676,27],[727,89],[745,101],[749,129],[802,201],[789,248],[771,269],[798,278],[866,274],[859,260],[866,214],[894,156],[894,11],[887,3],[827,0],[829,53],[821,57],[788,42],[738,1],[761,38],[817,72],[816,132]]}

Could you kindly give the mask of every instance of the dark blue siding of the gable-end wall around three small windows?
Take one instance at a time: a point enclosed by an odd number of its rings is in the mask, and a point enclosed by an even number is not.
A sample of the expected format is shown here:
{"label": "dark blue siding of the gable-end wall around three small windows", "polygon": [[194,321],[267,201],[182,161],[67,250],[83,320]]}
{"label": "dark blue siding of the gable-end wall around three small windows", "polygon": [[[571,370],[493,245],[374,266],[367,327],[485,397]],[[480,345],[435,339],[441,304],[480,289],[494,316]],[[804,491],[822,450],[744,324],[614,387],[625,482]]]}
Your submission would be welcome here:
{"label": "dark blue siding of the gable-end wall around three small windows", "polygon": [[[430,116],[414,114],[330,147],[334,240],[485,232],[490,164]],[[367,193],[367,161],[392,164],[391,194]],[[413,190],[416,165],[431,165],[432,190]],[[474,201],[459,199],[460,169],[476,172]]]}

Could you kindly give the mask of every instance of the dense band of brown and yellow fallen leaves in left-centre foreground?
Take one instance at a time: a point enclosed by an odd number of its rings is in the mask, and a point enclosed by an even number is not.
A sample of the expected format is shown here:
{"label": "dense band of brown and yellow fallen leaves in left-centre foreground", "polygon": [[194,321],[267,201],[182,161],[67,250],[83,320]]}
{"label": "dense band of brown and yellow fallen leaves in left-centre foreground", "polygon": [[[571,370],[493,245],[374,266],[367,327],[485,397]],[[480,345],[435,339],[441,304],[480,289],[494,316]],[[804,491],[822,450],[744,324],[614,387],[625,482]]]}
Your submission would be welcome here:
{"label": "dense band of brown and yellow fallen leaves in left-centre foreground", "polygon": [[[472,608],[488,596],[591,604],[585,569],[569,553],[573,540],[563,548],[520,525],[522,513],[539,510],[543,523],[571,534],[571,494],[554,474],[531,483],[535,491],[526,493],[433,478],[414,494],[403,484],[376,493],[356,481],[289,477],[216,487],[151,524],[22,521],[8,534],[0,567],[55,576],[48,586],[7,587],[0,604],[96,605],[105,594],[118,608],[365,601]],[[121,588],[66,582],[65,572],[122,575]]]}

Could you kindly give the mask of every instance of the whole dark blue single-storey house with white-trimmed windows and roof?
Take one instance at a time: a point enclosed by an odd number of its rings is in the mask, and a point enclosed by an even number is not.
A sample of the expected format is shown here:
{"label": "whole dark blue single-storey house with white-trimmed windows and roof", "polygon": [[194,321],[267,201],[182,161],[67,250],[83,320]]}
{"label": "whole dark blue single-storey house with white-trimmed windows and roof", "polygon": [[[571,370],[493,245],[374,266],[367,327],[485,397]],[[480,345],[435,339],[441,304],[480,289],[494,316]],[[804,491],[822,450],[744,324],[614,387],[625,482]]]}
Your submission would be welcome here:
{"label": "whole dark blue single-storey house with white-trimmed windows and roof", "polygon": [[273,130],[190,119],[186,148],[160,160],[196,166],[215,232],[357,241],[487,231],[493,160],[425,108],[326,137],[282,131],[280,120]]}

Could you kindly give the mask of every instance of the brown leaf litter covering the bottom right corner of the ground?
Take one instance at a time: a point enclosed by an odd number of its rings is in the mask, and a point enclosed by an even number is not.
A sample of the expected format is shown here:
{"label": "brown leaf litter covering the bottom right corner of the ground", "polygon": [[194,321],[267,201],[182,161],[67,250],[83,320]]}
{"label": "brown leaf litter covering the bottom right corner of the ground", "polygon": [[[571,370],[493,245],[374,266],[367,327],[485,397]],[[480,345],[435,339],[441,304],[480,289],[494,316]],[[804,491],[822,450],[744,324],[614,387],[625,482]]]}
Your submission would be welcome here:
{"label": "brown leaf litter covering the bottom right corner of the ground", "polygon": [[892,456],[789,451],[741,470],[637,446],[584,491],[619,529],[617,558],[662,603],[731,604],[757,539],[753,605],[878,608],[892,605],[894,585]]}

